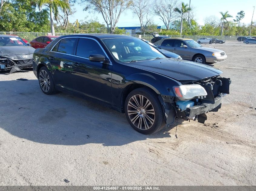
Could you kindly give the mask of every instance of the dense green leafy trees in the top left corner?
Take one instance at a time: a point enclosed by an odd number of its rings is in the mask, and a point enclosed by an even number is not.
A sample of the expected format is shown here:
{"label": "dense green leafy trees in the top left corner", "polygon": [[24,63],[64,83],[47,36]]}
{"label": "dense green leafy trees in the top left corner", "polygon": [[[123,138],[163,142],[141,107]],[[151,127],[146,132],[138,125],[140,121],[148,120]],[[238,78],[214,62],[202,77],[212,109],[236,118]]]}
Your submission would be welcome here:
{"label": "dense green leafy trees in the top left corner", "polygon": [[36,11],[28,0],[5,3],[0,15],[0,31],[46,32],[49,31],[48,12]]}

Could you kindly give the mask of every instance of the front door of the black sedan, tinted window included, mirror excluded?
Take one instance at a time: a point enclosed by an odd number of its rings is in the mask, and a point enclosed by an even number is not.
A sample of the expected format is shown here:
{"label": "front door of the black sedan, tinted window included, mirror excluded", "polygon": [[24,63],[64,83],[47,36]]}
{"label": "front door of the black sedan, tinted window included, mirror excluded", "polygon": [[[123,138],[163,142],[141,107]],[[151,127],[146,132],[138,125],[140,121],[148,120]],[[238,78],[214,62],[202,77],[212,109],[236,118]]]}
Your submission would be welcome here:
{"label": "front door of the black sedan, tinted window included, mirror excluded", "polygon": [[111,104],[112,64],[91,62],[89,56],[92,54],[101,54],[107,58],[98,41],[86,37],[79,38],[71,72],[74,91]]}

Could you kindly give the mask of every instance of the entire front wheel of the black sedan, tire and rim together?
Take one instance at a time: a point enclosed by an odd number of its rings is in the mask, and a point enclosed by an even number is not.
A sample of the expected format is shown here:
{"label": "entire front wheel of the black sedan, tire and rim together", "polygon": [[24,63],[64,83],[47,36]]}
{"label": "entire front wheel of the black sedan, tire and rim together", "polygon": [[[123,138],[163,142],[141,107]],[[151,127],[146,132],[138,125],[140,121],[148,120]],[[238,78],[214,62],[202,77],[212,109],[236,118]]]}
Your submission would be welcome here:
{"label": "entire front wheel of the black sedan, tire and rim together", "polygon": [[[142,98],[142,96],[144,97]],[[134,98],[138,104],[136,104]],[[138,88],[128,94],[125,100],[125,115],[131,127],[142,134],[147,135],[158,132],[165,126],[165,116],[161,103],[157,94],[149,88]],[[151,119],[154,120],[153,123],[151,123],[153,121]]]}

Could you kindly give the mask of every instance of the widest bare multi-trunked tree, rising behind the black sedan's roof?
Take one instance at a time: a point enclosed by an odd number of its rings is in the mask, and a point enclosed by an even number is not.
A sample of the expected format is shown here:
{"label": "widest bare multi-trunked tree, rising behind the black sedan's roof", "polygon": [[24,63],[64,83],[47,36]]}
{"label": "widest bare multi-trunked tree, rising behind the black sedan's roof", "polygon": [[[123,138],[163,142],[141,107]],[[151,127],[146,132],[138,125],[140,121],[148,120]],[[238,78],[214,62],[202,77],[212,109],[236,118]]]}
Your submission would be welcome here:
{"label": "widest bare multi-trunked tree, rising behind the black sedan's roof", "polygon": [[92,9],[101,13],[110,33],[115,32],[116,24],[122,12],[132,4],[131,0],[82,0],[87,3],[84,10]]}

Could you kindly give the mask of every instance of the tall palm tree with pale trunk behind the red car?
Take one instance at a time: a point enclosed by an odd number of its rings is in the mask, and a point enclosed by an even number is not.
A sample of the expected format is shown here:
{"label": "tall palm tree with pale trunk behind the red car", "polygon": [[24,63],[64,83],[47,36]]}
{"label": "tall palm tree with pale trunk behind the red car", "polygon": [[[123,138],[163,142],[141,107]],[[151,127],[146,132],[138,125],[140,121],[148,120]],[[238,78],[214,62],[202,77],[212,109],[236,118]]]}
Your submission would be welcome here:
{"label": "tall palm tree with pale trunk behind the red car", "polygon": [[37,0],[36,4],[38,5],[39,10],[42,10],[42,6],[47,6],[50,9],[50,21],[51,21],[51,33],[55,35],[54,25],[53,25],[53,16],[55,20],[58,17],[58,8],[61,10],[69,9],[69,4],[67,0]]}

